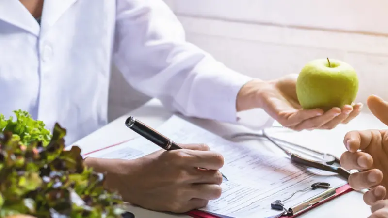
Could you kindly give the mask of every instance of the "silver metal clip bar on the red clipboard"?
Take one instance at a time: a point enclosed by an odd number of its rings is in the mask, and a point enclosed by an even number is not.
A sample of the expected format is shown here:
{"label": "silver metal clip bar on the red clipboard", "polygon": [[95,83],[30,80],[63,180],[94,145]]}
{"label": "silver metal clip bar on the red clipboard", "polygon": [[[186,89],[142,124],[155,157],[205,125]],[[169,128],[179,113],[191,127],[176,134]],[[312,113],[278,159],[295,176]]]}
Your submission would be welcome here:
{"label": "silver metal clip bar on the red clipboard", "polygon": [[303,201],[303,202],[296,204],[296,205],[292,206],[291,208],[289,208],[288,212],[287,212],[287,216],[298,215],[298,214],[306,211],[310,207],[314,206],[315,204],[323,202],[323,201],[331,198],[335,194],[336,194],[336,188],[333,187],[333,188],[327,189],[327,190],[323,191],[322,193],[317,194],[317,195],[307,199],[306,201]]}

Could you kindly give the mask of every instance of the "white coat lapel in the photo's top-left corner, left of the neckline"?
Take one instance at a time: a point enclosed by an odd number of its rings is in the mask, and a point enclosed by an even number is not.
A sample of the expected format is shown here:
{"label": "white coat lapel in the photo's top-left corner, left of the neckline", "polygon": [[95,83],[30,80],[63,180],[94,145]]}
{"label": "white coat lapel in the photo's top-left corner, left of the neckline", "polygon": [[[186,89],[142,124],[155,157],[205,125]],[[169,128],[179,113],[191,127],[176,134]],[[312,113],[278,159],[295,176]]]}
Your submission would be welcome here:
{"label": "white coat lapel in the photo's top-left corner, left of the neckline", "polygon": [[18,0],[0,0],[0,20],[39,35],[38,22]]}

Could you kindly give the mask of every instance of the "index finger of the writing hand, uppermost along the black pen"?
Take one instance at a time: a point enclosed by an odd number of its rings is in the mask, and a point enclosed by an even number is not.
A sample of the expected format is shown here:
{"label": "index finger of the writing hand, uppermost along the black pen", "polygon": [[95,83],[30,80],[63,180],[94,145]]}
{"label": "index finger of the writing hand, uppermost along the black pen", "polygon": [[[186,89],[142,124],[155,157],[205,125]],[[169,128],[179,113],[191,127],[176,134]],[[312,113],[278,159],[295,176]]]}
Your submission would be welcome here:
{"label": "index finger of the writing hand, uppermost along the black pen", "polygon": [[208,170],[219,170],[224,166],[224,157],[217,152],[182,149],[173,152],[176,153],[181,166]]}

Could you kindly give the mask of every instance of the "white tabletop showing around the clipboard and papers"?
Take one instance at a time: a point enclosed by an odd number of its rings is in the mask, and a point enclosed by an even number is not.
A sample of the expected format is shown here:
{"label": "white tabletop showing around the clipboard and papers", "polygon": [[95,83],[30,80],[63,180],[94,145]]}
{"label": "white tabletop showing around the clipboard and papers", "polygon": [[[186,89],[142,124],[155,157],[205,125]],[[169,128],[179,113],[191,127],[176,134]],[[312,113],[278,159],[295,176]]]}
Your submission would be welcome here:
{"label": "white tabletop showing around the clipboard and papers", "polygon": [[[252,117],[253,114],[257,115],[258,113],[255,110],[242,113],[242,122],[251,127],[256,126],[255,122],[257,121],[255,121],[255,117]],[[171,115],[172,113],[166,111],[166,109],[162,107],[158,100],[152,99],[144,106],[114,120],[110,124],[98,129],[97,131],[74,144],[81,147],[82,153],[94,151],[96,149],[103,148],[123,140],[139,137],[136,133],[125,127],[124,122],[128,116],[134,116],[147,125],[157,128]],[[231,133],[247,130],[241,125],[221,124],[213,121],[199,119],[188,120],[222,136],[227,136]],[[365,130],[372,128],[383,129],[387,128],[387,126],[380,123],[369,112],[363,112],[348,125],[339,125],[337,128],[330,131],[314,130],[292,132],[286,134],[286,138],[282,138],[314,148],[316,150],[340,156],[345,151],[342,141],[346,132],[350,130]],[[280,152],[279,149],[277,149],[275,146],[264,146],[263,144],[260,144],[258,140],[244,141],[241,143],[256,143],[258,144],[259,150],[265,149],[272,152]],[[136,218],[190,218],[186,215],[166,214],[132,206],[129,210],[135,214]],[[304,215],[301,215],[300,217],[367,218],[369,215],[370,207],[364,204],[362,200],[362,194],[356,191],[352,191],[330,202],[327,202],[305,213]]]}

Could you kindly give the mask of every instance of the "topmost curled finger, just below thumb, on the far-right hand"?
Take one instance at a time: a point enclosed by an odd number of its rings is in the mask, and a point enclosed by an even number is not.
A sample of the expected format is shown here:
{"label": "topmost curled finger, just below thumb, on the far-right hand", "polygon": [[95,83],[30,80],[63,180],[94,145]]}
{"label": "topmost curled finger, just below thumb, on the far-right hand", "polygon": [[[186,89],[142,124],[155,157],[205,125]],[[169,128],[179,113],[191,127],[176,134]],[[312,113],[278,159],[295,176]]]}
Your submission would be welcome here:
{"label": "topmost curled finger, just below thumb, on the far-right hand", "polygon": [[380,135],[378,130],[350,131],[346,133],[343,143],[346,149],[352,153],[366,149],[371,143],[373,136]]}

